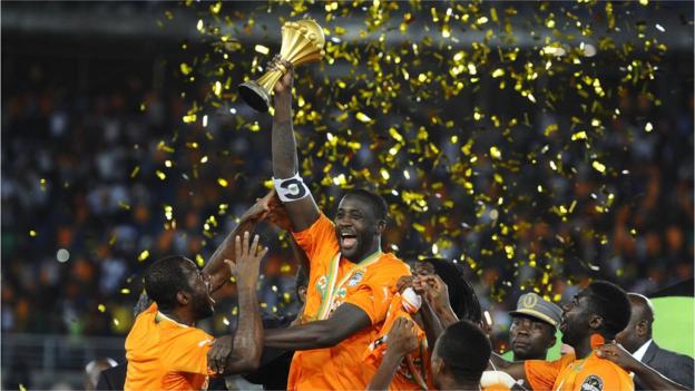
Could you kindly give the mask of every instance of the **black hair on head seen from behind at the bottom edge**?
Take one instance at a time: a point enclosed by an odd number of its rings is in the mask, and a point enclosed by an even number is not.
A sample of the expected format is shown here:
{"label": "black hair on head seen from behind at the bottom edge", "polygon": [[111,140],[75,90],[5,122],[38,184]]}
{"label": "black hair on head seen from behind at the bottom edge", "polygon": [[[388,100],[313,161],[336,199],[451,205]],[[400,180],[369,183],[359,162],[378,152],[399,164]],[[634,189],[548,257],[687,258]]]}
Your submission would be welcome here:
{"label": "black hair on head seen from behind at the bottom edge", "polygon": [[491,353],[488,336],[469,321],[451,323],[437,340],[437,354],[459,383],[480,381]]}

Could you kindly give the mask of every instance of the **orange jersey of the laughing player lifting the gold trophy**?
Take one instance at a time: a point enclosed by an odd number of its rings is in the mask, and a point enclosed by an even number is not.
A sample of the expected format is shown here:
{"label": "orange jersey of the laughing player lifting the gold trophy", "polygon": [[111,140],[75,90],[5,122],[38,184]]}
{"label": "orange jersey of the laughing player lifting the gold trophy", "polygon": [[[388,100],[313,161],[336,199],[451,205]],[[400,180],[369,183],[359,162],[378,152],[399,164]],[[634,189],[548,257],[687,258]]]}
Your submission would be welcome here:
{"label": "orange jersey of the laughing player lifting the gold trophy", "polygon": [[359,306],[372,322],[332,348],[294,353],[287,390],[364,390],[376,366],[364,352],[386,317],[395,283],[410,268],[393,254],[378,253],[360,264],[340,256],[333,223],[321,215],[307,229],[293,233],[310,260],[311,271],[302,322],[330,317],[343,303]]}

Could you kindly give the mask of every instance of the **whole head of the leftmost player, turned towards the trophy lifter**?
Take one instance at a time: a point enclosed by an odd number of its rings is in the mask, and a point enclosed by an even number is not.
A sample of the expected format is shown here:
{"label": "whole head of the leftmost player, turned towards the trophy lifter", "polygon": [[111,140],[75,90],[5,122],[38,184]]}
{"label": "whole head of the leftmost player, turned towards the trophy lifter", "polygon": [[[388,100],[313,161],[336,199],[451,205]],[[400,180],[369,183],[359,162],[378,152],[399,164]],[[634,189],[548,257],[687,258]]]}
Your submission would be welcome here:
{"label": "whole head of the leftmost player, turned towards the trophy lifter", "polygon": [[168,256],[149,266],[145,272],[145,292],[161,311],[186,309],[195,320],[214,312],[209,278],[183,256]]}

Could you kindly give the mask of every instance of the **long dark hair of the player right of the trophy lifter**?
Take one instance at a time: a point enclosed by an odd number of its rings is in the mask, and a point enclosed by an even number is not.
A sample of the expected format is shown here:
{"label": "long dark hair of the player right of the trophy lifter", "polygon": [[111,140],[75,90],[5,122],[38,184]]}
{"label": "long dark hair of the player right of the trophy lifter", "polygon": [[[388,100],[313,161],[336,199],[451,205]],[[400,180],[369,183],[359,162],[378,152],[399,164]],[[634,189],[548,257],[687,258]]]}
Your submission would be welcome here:
{"label": "long dark hair of the player right of the trophy lifter", "polygon": [[424,258],[421,262],[429,262],[434,267],[434,273],[447,284],[449,303],[457,316],[460,320],[480,323],[482,320],[480,301],[457,264],[443,258]]}

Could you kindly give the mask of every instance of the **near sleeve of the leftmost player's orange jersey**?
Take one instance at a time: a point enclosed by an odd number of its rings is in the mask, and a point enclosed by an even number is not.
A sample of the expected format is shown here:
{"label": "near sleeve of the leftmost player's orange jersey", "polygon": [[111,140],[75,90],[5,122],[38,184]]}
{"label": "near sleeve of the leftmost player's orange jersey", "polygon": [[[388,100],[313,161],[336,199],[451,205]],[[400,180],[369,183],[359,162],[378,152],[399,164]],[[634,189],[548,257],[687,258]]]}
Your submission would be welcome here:
{"label": "near sleeve of the leftmost player's orange jersey", "polygon": [[207,351],[213,338],[202,330],[190,329],[183,332],[173,349],[167,352],[172,370],[188,373],[209,374]]}

